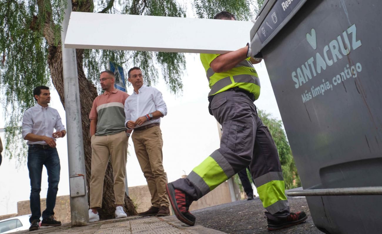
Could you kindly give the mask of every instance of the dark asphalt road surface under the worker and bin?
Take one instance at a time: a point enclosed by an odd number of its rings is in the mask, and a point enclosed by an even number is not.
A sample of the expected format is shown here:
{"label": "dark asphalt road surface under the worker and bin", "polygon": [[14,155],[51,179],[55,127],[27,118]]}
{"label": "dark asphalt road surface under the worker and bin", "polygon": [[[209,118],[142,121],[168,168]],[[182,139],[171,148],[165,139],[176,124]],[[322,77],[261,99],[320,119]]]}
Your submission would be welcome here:
{"label": "dark asphalt road surface under the worker and bin", "polygon": [[196,224],[230,234],[323,234],[314,226],[305,197],[289,197],[291,212],[305,211],[308,219],[278,231],[268,231],[265,209],[258,197],[192,211]]}

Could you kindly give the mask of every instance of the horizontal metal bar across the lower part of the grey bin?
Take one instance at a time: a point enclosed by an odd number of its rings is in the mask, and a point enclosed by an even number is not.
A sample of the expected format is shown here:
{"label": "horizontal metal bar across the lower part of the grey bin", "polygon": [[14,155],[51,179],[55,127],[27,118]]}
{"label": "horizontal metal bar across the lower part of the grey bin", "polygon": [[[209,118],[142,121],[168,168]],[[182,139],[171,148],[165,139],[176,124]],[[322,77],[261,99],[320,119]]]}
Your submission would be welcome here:
{"label": "horizontal metal bar across the lower part of the grey bin", "polygon": [[382,195],[382,186],[336,189],[308,189],[286,192],[286,195],[288,195],[289,197]]}

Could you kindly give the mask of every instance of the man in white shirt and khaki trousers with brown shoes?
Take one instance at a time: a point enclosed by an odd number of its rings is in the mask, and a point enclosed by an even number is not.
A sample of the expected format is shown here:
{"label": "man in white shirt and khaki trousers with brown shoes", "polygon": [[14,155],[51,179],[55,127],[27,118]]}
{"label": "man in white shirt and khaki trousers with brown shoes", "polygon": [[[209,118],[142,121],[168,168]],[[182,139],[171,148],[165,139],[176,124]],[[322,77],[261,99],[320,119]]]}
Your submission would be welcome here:
{"label": "man in white shirt and khaki trousers with brown shoes", "polygon": [[162,160],[162,132],[160,118],[167,115],[167,106],[162,93],[154,87],[143,85],[142,71],[133,67],[128,71],[128,80],[134,92],[125,102],[125,125],[134,129],[132,139],[139,165],[151,194],[152,207],[140,216],[170,215],[166,194],[167,177]]}

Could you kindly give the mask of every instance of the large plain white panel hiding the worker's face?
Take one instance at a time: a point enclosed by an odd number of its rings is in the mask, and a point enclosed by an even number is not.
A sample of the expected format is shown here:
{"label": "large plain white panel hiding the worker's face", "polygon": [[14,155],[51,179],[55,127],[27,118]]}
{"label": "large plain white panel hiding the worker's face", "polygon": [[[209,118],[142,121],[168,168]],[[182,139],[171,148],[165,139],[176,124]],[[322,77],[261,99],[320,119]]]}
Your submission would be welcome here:
{"label": "large plain white panel hiding the worker's face", "polygon": [[72,12],[65,48],[226,53],[250,42],[251,21]]}

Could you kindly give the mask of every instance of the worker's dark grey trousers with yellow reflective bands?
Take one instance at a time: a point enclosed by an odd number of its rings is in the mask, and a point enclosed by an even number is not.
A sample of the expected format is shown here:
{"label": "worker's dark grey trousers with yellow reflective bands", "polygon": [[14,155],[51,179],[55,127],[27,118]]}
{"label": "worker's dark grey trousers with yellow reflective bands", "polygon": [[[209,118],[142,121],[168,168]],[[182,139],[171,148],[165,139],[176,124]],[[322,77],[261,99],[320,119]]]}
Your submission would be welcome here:
{"label": "worker's dark grey trousers with yellow reflective bands", "polygon": [[243,92],[227,90],[215,95],[211,109],[223,127],[220,148],[209,156],[212,163],[207,158],[173,186],[197,200],[249,165],[268,218],[289,215],[277,148],[253,101]]}

